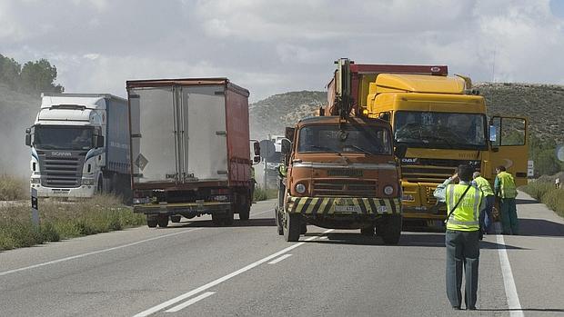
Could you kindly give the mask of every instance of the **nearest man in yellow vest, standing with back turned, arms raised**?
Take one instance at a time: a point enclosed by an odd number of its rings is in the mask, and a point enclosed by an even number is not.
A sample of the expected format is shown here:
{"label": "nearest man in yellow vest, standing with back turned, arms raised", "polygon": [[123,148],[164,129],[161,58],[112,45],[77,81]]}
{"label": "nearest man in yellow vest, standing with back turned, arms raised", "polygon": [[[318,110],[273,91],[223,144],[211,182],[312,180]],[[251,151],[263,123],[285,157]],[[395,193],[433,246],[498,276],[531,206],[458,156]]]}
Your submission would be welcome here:
{"label": "nearest man in yellow vest, standing with back turned, arms raised", "polygon": [[[470,165],[458,166],[458,173],[437,186],[435,197],[447,203],[447,297],[452,309],[460,310],[462,303],[462,274],[466,289],[464,302],[467,310],[476,310],[479,263],[479,214],[486,208],[484,194],[471,185],[474,169]],[[457,179],[459,183],[453,182]],[[462,270],[464,265],[464,270]]]}

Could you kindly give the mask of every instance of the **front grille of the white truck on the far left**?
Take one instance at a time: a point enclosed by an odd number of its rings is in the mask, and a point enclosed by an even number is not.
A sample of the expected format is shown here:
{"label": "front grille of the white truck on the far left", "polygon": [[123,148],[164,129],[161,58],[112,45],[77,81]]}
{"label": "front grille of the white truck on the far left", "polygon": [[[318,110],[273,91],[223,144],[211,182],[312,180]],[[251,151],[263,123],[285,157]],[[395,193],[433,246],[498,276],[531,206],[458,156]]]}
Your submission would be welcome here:
{"label": "front grille of the white truck on the far left", "polygon": [[79,187],[85,160],[84,155],[59,157],[39,154],[41,184],[45,187]]}

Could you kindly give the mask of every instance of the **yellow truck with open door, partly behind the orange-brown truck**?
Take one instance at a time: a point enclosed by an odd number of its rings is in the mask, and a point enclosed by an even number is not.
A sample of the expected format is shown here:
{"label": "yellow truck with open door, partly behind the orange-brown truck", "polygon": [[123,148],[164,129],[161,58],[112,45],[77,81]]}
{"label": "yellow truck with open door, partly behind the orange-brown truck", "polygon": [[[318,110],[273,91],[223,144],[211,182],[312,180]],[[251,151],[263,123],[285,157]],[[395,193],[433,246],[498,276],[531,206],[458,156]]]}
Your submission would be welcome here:
{"label": "yellow truck with open door, partly behind the orange-brown truck", "polygon": [[[351,99],[351,112],[392,124],[401,159],[404,221],[438,225],[446,217],[433,192],[465,163],[493,183],[504,165],[518,185],[527,183],[527,120],[486,114],[484,97],[468,77],[448,76],[446,65],[355,64],[339,59],[327,85],[327,110]],[[345,70],[345,71],[343,71]],[[343,75],[350,95],[337,92]]]}

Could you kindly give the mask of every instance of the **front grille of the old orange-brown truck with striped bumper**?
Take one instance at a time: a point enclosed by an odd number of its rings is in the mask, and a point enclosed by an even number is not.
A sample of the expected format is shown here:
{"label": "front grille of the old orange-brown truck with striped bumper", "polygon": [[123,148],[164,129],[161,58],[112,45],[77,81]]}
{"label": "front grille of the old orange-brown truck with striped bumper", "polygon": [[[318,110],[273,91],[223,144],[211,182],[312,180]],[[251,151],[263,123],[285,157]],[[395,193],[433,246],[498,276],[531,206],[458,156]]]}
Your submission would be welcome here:
{"label": "front grille of the old orange-brown truck with striped bumper", "polygon": [[350,179],[317,180],[313,183],[314,196],[376,197],[375,181]]}

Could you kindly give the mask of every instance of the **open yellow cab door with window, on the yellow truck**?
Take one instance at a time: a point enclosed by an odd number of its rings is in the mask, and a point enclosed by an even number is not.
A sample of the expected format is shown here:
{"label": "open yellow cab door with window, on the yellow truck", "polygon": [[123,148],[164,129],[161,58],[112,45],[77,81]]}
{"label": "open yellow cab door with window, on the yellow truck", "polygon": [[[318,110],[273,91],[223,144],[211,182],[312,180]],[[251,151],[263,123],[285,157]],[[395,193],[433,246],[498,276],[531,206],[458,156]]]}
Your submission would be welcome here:
{"label": "open yellow cab door with window, on the yellow truck", "polygon": [[527,184],[527,119],[520,117],[493,116],[489,121],[489,172],[495,177],[499,165],[515,177],[516,185]]}

